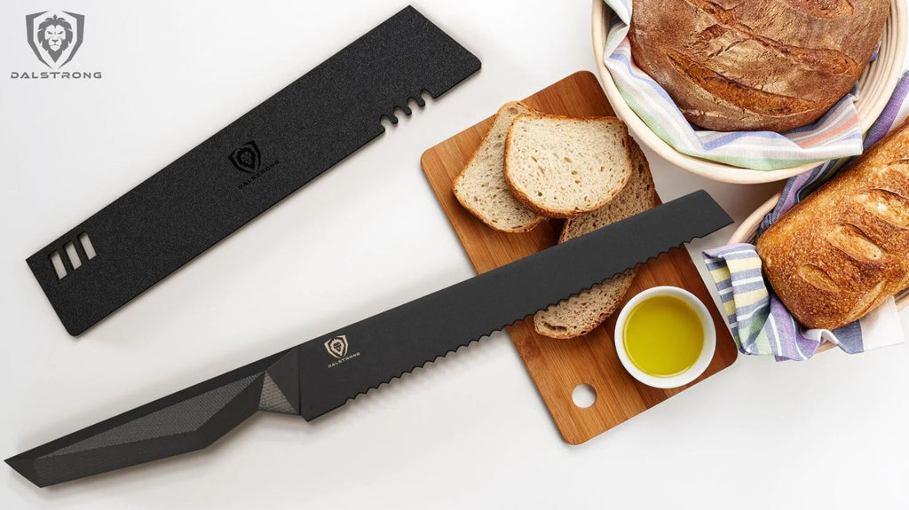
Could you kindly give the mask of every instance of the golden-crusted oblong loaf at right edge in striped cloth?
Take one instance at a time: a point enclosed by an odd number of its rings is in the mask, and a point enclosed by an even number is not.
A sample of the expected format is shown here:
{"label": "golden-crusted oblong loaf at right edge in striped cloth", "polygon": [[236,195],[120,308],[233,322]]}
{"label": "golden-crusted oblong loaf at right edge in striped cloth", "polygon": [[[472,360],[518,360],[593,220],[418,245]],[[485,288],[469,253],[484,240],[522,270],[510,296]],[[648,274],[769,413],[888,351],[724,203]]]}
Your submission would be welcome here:
{"label": "golden-crusted oblong loaf at right edge in striped cloth", "polygon": [[849,324],[909,287],[909,123],[786,212],[757,253],[809,328]]}

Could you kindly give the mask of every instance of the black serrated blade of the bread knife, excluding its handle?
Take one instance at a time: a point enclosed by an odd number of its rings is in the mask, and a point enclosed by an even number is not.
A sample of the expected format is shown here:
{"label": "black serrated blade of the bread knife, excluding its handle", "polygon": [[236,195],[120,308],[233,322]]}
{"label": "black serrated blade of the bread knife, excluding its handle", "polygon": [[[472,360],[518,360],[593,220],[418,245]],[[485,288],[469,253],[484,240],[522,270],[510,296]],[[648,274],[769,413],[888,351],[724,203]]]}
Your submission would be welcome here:
{"label": "black serrated blade of the bread knife, excluding its handle", "polygon": [[[696,191],[298,346],[300,414],[348,398],[732,223]],[[342,362],[325,342],[343,336]],[[339,345],[341,345],[339,344]]]}

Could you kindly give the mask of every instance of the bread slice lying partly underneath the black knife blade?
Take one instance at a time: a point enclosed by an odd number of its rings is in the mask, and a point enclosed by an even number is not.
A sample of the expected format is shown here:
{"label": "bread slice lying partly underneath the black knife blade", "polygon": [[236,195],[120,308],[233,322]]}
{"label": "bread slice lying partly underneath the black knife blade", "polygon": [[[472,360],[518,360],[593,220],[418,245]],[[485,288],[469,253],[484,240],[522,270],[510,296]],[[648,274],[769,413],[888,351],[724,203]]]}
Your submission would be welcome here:
{"label": "bread slice lying partly underneath the black knife blade", "polygon": [[[628,183],[603,208],[575,216],[565,221],[559,242],[574,239],[587,232],[624,220],[639,212],[656,206],[654,178],[644,152],[634,140],[629,139],[634,171]],[[631,287],[637,270],[626,270],[623,274],[594,285],[573,298],[566,299],[534,315],[534,329],[550,338],[574,338],[586,335],[603,324],[615,311],[615,307]]]}

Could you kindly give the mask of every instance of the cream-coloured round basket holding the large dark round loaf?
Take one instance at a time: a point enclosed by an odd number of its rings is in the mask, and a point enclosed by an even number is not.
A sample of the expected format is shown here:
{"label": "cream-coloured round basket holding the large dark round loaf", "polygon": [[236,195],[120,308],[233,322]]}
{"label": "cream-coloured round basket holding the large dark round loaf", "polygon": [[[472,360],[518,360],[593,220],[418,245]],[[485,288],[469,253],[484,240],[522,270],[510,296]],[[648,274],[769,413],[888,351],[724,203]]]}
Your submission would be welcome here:
{"label": "cream-coloured round basket holding the large dark round loaf", "polygon": [[[677,152],[671,145],[664,142],[662,138],[651,131],[650,127],[628,106],[628,103],[624,102],[622,94],[615,88],[615,83],[609,74],[609,70],[603,64],[603,49],[606,41],[606,31],[609,28],[608,17],[610,15],[612,13],[605,8],[603,0],[594,0],[593,35],[596,68],[600,74],[600,84],[603,86],[606,97],[609,98],[609,103],[613,105],[615,114],[624,123],[628,124],[628,129],[634,134],[634,138],[638,142],[643,143],[675,166],[714,181],[740,184],[782,181],[793,175],[811,170],[817,165],[817,163],[809,163],[780,170],[759,171],[711,162]],[[877,60],[868,64],[864,74],[858,81],[861,93],[855,103],[855,107],[858,109],[863,133],[871,127],[877,116],[884,110],[884,106],[894,93],[900,74],[903,73],[906,34],[906,0],[891,0],[890,16],[884,25],[884,34],[881,36],[881,48],[878,51]]]}

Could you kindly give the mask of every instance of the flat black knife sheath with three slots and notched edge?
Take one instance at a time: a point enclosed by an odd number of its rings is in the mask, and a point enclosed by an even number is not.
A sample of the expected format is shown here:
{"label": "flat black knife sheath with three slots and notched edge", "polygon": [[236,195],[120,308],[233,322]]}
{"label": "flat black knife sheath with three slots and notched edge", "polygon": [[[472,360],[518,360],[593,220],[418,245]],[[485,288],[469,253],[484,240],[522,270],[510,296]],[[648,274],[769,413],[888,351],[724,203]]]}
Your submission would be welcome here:
{"label": "flat black knife sheath with three slots and notched edge", "polygon": [[[79,335],[382,134],[381,116],[396,123],[396,105],[422,102],[424,90],[438,97],[479,68],[407,7],[37,251],[28,266],[65,329]],[[69,242],[82,262],[76,269]]]}

